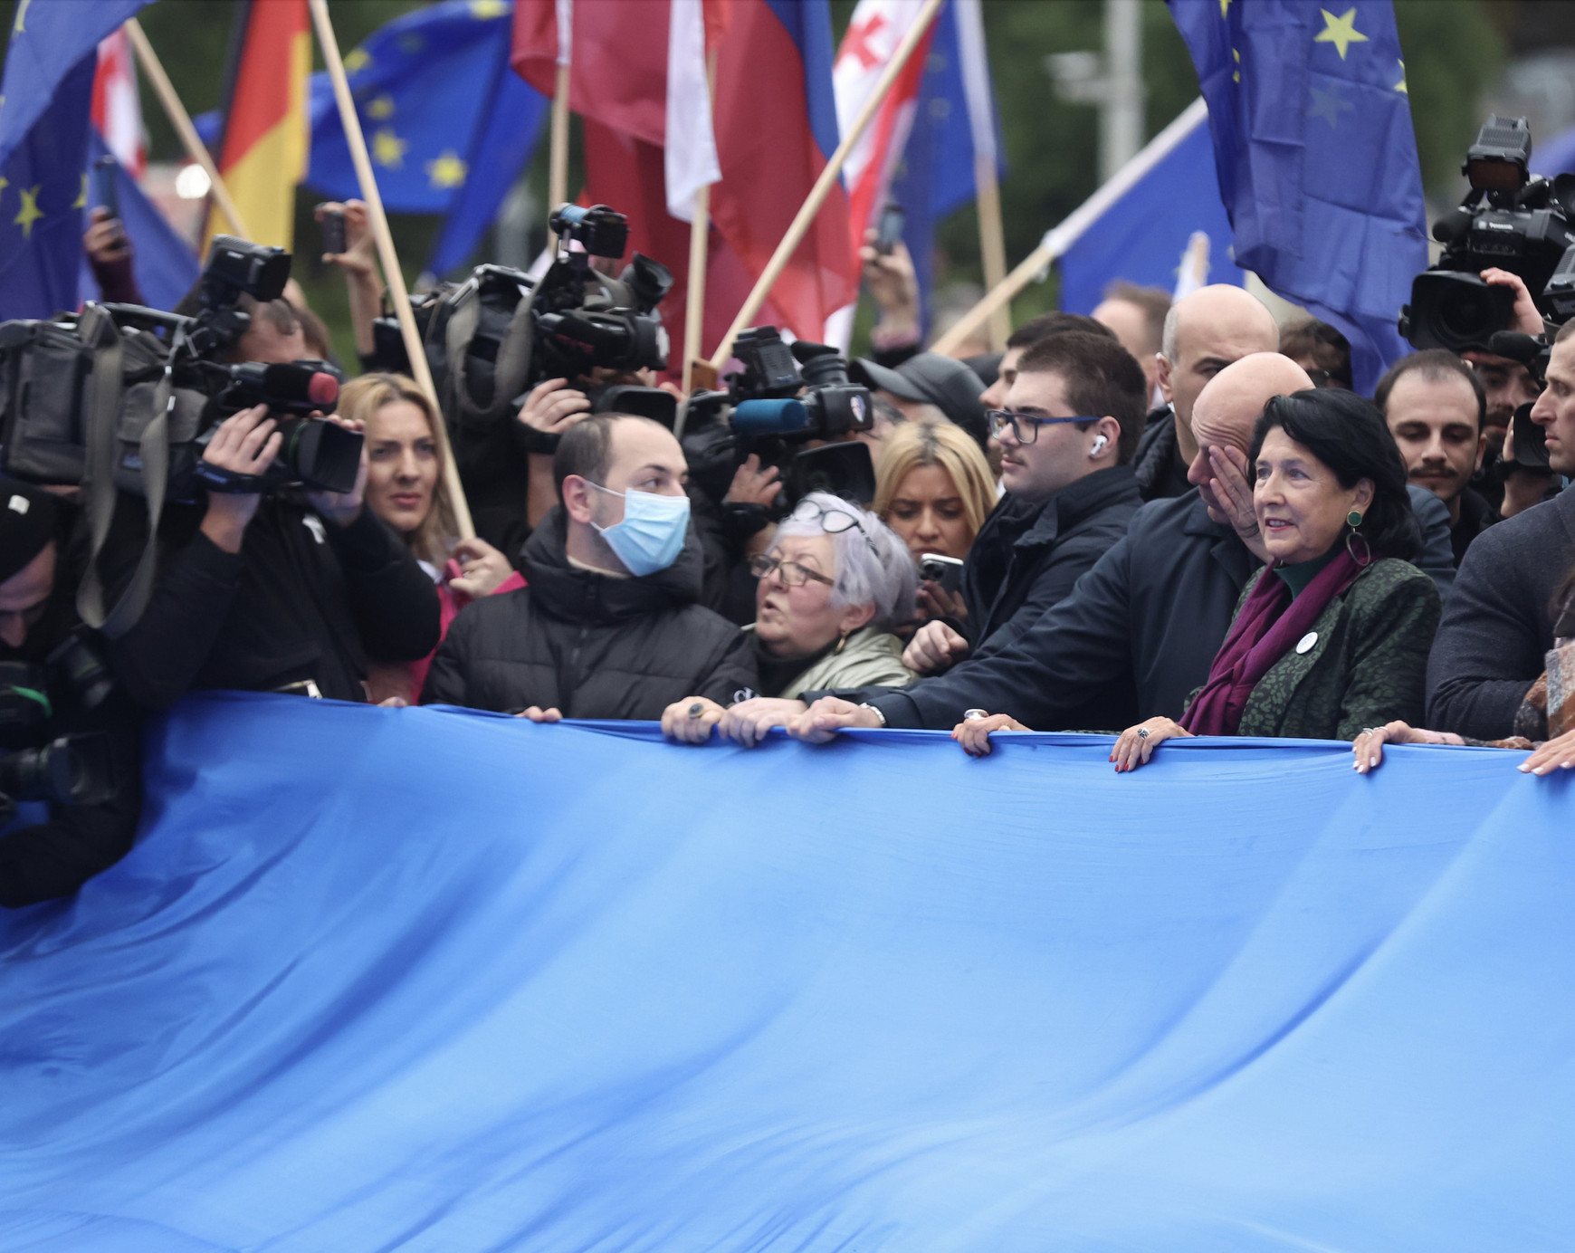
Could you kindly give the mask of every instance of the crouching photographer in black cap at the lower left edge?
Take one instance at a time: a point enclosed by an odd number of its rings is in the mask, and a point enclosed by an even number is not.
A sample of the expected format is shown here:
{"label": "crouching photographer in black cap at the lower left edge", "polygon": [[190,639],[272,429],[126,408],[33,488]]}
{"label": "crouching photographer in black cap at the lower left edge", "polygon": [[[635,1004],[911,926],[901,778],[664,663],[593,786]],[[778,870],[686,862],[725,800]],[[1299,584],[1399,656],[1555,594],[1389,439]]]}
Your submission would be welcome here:
{"label": "crouching photographer in black cap at the lower left edge", "polygon": [[69,895],[131,848],[142,714],[77,627],[68,506],[0,479],[0,906]]}

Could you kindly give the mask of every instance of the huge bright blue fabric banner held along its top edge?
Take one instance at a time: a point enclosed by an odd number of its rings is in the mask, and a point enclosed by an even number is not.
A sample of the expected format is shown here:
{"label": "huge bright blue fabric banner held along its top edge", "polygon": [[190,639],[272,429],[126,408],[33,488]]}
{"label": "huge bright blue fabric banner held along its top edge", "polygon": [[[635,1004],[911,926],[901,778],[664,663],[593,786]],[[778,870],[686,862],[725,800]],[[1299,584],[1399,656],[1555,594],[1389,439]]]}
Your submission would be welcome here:
{"label": "huge bright blue fabric banner held along its top edge", "polygon": [[1567,1248],[1569,780],[1109,742],[192,700],[0,922],[0,1248]]}

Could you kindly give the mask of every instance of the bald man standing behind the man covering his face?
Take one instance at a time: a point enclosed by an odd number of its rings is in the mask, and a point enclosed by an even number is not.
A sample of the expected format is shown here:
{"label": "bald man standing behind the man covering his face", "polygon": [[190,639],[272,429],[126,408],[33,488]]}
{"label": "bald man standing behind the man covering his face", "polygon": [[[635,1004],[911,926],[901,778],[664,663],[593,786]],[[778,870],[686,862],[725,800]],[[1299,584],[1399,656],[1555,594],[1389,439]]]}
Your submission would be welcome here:
{"label": "bald man standing behind the man covering his face", "polygon": [[1156,358],[1159,396],[1137,446],[1132,473],[1143,500],[1181,496],[1191,490],[1188,470],[1197,457],[1192,407],[1208,381],[1251,353],[1279,350],[1279,325],[1257,296],[1240,287],[1200,287],[1170,306]]}

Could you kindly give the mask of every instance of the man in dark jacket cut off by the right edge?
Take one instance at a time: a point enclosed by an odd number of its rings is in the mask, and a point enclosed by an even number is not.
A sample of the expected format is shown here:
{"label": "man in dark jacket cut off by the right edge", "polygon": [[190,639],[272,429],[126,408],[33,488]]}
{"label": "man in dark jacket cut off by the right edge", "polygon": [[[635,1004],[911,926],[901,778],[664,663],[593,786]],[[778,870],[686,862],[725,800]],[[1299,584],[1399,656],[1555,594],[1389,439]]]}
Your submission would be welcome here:
{"label": "man in dark jacket cut off by the right edge", "polygon": [[[1575,322],[1548,358],[1531,421],[1547,432],[1548,465],[1575,474]],[[1427,665],[1427,722],[1474,739],[1514,734],[1515,712],[1567,624],[1556,604],[1575,571],[1575,492],[1484,531],[1460,563]],[[1558,630],[1555,627],[1559,627]]]}

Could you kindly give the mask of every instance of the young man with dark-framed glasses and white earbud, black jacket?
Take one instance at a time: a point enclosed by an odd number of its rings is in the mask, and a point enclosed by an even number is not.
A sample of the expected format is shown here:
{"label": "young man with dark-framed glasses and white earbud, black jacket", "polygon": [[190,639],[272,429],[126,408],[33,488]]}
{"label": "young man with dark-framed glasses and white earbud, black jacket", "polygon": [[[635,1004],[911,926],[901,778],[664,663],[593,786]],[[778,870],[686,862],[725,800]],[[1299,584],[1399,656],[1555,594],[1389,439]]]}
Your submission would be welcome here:
{"label": "young man with dark-framed glasses and white earbud, black jacket", "polygon": [[1005,402],[1017,432],[995,432],[1006,495],[962,569],[964,632],[926,623],[902,656],[909,670],[939,675],[1006,648],[1126,534],[1142,503],[1126,463],[1145,386],[1131,353],[1106,336],[1068,331],[1024,350]]}

